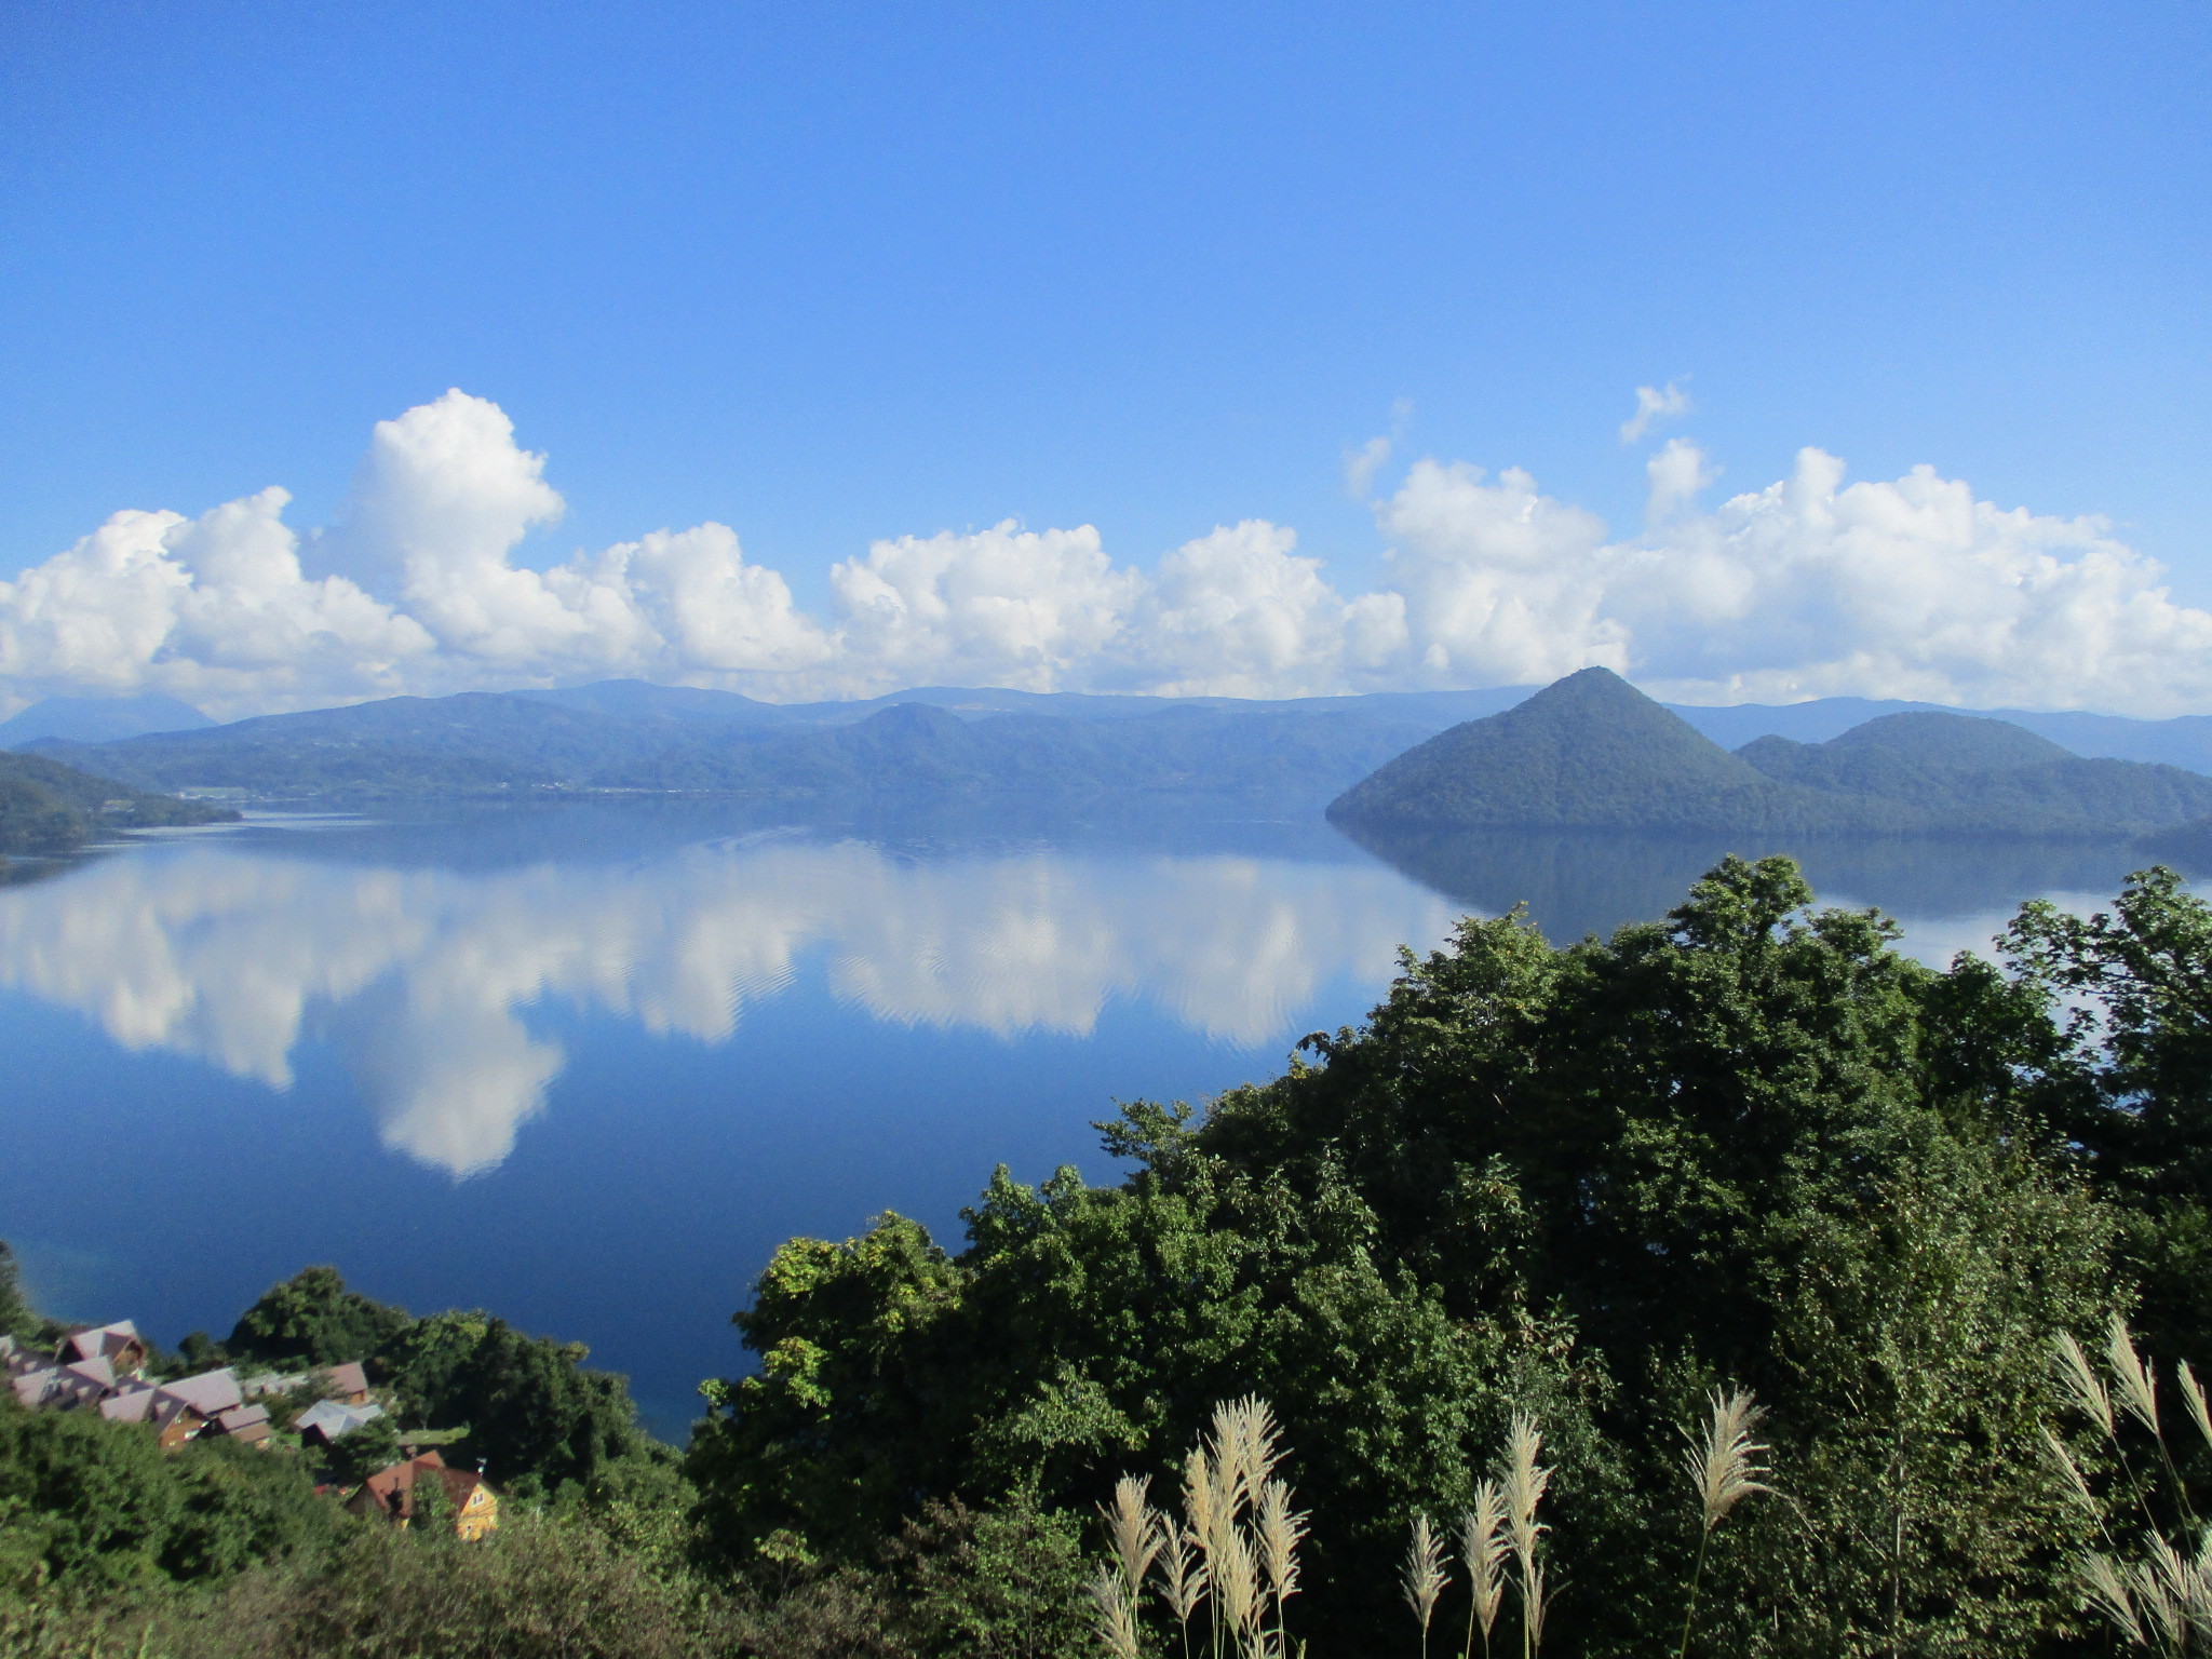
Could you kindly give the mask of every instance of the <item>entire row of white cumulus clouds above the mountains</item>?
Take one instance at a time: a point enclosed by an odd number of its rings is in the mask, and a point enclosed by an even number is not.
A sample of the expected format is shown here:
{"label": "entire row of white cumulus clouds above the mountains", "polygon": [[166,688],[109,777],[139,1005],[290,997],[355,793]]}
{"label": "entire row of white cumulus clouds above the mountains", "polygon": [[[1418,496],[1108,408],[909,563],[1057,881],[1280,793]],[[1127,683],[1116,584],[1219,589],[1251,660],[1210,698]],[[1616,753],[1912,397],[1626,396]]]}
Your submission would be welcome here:
{"label": "entire row of white cumulus clouds above the mountains", "polygon": [[[1635,434],[1688,407],[1639,389]],[[1402,431],[1352,460],[1367,489]],[[1371,465],[1369,465],[1371,456]],[[1590,664],[1686,701],[1856,692],[1962,706],[2212,708],[2212,615],[2088,518],[1980,500],[1920,467],[1790,478],[1705,509],[1688,438],[1646,460],[1641,533],[1522,469],[1425,458],[1376,502],[1385,584],[1345,593],[1287,524],[1115,560],[1097,529],[874,542],[810,615],[726,524],[524,557],[562,518],[546,458],[465,392],[378,422],[310,553],[283,489],[199,518],[119,511],[0,582],[0,712],[164,690],[215,714],[606,677],[757,697],[925,684],[1294,697],[1540,684]]]}

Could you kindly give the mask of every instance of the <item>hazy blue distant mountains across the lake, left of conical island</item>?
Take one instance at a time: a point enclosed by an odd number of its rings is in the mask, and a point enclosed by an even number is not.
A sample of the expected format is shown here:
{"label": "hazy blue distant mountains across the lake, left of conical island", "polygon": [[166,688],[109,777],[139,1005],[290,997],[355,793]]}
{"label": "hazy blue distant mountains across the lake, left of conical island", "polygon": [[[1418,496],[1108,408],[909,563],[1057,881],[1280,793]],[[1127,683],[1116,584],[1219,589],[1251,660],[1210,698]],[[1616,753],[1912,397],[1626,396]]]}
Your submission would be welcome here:
{"label": "hazy blue distant mountains across the lake, left of conical island", "polygon": [[261,799],[639,790],[856,807],[922,796],[1203,794],[1312,810],[1433,730],[1433,717],[1396,703],[1318,712],[1146,703],[1113,719],[962,719],[916,701],[832,723],[761,717],[763,703],[726,692],[697,697],[726,701],[695,703],[670,688],[591,699],[394,697],[206,732],[42,743],[40,752],[144,787],[234,787]]}

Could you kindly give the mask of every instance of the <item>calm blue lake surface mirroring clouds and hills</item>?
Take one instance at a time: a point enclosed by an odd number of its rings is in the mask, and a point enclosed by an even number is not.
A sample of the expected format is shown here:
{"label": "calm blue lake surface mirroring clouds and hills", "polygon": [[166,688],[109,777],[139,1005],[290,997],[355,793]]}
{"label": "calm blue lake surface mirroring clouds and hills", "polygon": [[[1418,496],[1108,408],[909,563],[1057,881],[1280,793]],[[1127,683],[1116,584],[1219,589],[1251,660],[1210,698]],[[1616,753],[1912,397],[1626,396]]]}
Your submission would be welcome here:
{"label": "calm blue lake surface mirroring clouds and hills", "polygon": [[[681,1436],[779,1241],[880,1210],[958,1248],[1006,1164],[1274,1075],[1400,945],[1528,900],[1661,914],[1725,847],[1360,847],[1318,818],[761,827],[712,807],[261,818],[0,887],[0,1237],[66,1318],[221,1336],[332,1261],[577,1338]],[[1907,949],[2088,907],[2124,847],[1803,847]]]}

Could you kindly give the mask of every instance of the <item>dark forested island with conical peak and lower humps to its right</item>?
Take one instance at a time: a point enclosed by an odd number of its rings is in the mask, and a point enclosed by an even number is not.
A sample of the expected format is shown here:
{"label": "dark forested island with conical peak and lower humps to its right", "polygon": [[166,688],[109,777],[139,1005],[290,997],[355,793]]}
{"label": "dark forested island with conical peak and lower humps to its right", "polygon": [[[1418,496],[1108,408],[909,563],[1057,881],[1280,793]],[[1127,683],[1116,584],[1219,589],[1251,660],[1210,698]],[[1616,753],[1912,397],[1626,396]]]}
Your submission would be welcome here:
{"label": "dark forested island with conical peak and lower humps to its right", "polygon": [[1730,752],[1604,668],[1418,743],[1345,790],[1367,830],[2117,836],[2212,816],[2212,776],[2086,759],[2000,719],[1882,714]]}

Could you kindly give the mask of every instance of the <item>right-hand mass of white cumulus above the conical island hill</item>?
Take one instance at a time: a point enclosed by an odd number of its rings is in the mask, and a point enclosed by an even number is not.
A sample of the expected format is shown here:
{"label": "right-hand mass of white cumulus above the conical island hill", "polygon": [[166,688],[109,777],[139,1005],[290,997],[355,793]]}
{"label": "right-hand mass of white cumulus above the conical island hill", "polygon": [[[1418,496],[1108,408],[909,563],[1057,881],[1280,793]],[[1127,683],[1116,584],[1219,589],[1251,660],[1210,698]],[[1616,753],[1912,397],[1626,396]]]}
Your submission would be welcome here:
{"label": "right-hand mass of white cumulus above the conical island hill", "polygon": [[1703,456],[1670,445],[1652,465],[1657,522],[1610,542],[1526,473],[1422,462],[1383,507],[1420,666],[1473,684],[1601,664],[1703,703],[2212,701],[2212,615],[2174,604],[2161,566],[2104,522],[2000,509],[1931,467],[1843,476],[1805,449],[1787,480],[1694,513]]}

